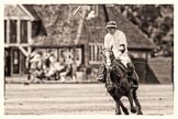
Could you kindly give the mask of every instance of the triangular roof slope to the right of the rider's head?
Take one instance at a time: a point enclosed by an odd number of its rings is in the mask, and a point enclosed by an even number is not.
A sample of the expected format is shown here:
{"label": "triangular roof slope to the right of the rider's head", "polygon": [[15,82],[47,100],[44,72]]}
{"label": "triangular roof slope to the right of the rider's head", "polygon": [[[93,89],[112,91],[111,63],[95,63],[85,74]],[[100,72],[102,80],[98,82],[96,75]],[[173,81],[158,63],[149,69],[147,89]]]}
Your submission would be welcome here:
{"label": "triangular roof slope to the right of the rider's head", "polygon": [[127,37],[129,47],[133,48],[155,48],[155,44],[143,33],[138,28],[133,25],[126,18],[124,18],[116,8],[108,8],[110,20],[115,20],[118,26],[123,31]]}

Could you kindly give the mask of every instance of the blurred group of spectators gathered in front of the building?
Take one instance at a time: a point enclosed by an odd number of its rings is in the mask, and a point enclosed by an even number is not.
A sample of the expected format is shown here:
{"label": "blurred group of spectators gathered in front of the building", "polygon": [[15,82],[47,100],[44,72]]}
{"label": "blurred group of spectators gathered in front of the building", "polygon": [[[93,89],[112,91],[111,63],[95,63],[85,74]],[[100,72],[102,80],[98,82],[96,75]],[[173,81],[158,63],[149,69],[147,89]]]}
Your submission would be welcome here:
{"label": "blurred group of spectators gathered in front of the building", "polygon": [[73,61],[70,57],[65,57],[62,54],[60,62],[58,62],[52,51],[34,51],[30,54],[29,63],[30,75],[33,76],[31,79],[51,79],[54,75],[56,76],[56,73],[67,75],[71,71]]}

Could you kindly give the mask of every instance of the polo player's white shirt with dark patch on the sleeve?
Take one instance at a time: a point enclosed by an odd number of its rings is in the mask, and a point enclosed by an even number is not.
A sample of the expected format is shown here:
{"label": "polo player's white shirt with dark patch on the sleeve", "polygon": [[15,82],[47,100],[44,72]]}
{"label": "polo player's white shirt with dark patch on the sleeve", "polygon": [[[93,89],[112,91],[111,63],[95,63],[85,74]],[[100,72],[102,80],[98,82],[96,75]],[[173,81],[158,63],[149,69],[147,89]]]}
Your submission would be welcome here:
{"label": "polo player's white shirt with dark patch on the sleeve", "polygon": [[[125,51],[121,53],[121,44],[124,45]],[[120,31],[115,30],[114,34],[108,33],[104,36],[104,47],[105,48],[111,48],[115,55],[115,58],[121,60],[121,61],[127,61],[131,62],[129,55],[127,55],[127,42],[126,42],[126,36],[125,34]],[[125,63],[124,63],[125,64]]]}

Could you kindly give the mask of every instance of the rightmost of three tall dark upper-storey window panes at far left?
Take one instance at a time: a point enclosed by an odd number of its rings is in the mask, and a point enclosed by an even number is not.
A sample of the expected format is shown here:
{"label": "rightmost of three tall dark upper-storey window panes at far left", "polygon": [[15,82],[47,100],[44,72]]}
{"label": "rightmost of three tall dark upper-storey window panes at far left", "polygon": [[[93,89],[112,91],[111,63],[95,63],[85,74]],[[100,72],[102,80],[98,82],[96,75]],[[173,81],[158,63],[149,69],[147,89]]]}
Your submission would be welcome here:
{"label": "rightmost of three tall dark upper-storey window panes at far left", "polygon": [[20,34],[21,34],[21,43],[27,43],[27,21],[21,20],[21,28],[20,28]]}

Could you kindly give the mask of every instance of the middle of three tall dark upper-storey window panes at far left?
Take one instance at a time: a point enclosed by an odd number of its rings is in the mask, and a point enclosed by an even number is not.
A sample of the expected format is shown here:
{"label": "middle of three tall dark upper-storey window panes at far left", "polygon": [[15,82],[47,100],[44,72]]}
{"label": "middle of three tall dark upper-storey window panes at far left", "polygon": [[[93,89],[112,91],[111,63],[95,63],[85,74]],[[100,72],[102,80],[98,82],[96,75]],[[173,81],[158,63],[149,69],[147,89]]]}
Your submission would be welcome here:
{"label": "middle of three tall dark upper-storey window panes at far left", "polygon": [[10,43],[16,43],[16,20],[10,20]]}

